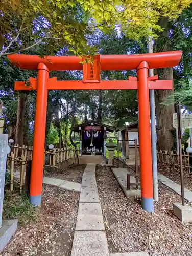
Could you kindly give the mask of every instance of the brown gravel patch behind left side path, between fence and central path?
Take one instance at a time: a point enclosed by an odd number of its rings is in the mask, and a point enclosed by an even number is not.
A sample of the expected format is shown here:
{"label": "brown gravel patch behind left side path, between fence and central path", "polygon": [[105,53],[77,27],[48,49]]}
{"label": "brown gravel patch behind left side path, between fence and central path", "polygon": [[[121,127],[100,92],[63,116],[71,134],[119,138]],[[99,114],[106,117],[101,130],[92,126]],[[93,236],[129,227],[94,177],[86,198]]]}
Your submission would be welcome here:
{"label": "brown gravel patch behind left side path, between fence and central path", "polygon": [[73,165],[69,168],[55,169],[55,171],[52,168],[46,167],[43,176],[81,183],[85,167],[86,165],[84,164]]}

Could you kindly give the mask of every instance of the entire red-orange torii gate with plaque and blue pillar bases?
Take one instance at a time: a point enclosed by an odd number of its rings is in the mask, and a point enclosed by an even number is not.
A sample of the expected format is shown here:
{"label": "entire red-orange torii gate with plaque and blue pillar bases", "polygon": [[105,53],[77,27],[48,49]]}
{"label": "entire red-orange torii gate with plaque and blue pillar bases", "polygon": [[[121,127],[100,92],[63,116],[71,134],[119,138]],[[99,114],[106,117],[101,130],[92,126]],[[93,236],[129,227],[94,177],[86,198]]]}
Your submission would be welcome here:
{"label": "entire red-orange torii gate with plaque and blue pillar bases", "polygon": [[[21,69],[37,69],[38,79],[29,82],[15,82],[15,90],[37,90],[33,139],[33,159],[30,185],[30,202],[41,203],[44,163],[44,141],[47,108],[47,90],[87,89],[138,89],[139,148],[142,208],[152,212],[153,179],[150,132],[149,89],[172,89],[172,80],[157,80],[148,77],[149,69],[173,67],[178,64],[181,51],[138,54],[138,55],[97,55],[91,63],[83,62],[77,56],[45,56],[13,54],[8,58]],[[81,61],[81,63],[80,63]],[[137,78],[129,80],[101,80],[100,70],[137,70]],[[49,78],[50,70],[83,70],[83,81],[57,81]]]}

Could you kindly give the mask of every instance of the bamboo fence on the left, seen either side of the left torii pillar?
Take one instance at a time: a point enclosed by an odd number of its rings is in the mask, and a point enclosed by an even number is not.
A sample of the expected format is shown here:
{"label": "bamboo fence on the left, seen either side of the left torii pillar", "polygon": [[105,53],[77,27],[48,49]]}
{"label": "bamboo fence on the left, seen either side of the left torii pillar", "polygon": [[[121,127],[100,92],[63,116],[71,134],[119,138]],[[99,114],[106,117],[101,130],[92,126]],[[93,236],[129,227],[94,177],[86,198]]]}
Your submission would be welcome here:
{"label": "bamboo fence on the left, seen either side of the left torii pillar", "polygon": [[[25,183],[25,171],[28,160],[32,160],[33,147],[19,146],[18,144],[9,145],[11,152],[7,157],[7,167],[10,169],[10,191],[13,191],[14,176],[20,174],[20,193],[22,193]],[[73,164],[78,164],[78,150],[75,148],[54,148],[44,151],[44,167],[59,168],[69,159],[73,159]]]}

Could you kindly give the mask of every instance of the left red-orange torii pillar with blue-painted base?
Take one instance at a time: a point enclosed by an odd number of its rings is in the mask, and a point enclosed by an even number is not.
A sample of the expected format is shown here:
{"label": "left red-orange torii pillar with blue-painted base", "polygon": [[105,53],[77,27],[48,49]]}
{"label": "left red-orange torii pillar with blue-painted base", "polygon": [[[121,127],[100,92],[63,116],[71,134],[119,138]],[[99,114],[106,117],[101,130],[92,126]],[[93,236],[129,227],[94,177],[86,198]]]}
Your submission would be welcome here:
{"label": "left red-orange torii pillar with blue-painted base", "polygon": [[49,78],[49,69],[46,67],[46,65],[39,63],[37,70],[37,97],[33,136],[32,172],[30,182],[30,202],[33,205],[41,204],[46,129],[47,82]]}

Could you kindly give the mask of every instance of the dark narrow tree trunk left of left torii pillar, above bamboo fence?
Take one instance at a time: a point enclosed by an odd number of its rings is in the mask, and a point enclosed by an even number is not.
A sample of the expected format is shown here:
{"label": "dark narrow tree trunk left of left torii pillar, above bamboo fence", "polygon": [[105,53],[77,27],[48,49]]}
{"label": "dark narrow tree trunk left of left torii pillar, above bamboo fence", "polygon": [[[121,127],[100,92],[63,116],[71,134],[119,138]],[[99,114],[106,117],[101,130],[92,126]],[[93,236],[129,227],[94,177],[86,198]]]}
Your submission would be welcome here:
{"label": "dark narrow tree trunk left of left torii pillar, above bamboo fence", "polygon": [[21,92],[18,97],[17,123],[15,132],[15,143],[19,144],[20,146],[23,145],[23,127],[25,125],[26,100],[27,94],[25,92]]}

